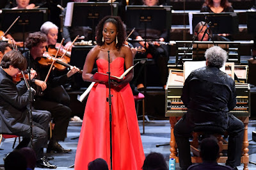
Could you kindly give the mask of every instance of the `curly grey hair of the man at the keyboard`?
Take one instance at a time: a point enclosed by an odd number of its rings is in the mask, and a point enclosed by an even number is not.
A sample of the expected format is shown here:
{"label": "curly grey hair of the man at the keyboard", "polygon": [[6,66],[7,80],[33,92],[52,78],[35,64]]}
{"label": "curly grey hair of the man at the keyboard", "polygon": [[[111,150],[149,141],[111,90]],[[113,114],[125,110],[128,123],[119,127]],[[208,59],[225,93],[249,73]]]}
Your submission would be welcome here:
{"label": "curly grey hair of the man at the keyboard", "polygon": [[227,57],[227,51],[221,49],[219,46],[213,46],[205,51],[208,66],[221,68],[225,61],[227,61]]}

